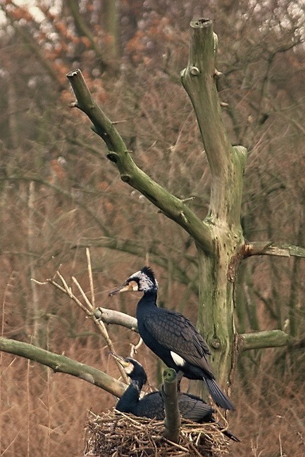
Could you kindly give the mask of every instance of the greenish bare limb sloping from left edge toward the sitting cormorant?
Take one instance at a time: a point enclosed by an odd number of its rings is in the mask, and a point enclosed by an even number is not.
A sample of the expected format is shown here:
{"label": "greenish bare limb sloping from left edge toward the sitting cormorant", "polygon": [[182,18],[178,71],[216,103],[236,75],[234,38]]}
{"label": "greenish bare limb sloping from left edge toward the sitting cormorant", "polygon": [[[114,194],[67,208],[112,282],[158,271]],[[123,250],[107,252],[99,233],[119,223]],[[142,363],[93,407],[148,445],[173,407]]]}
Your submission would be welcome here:
{"label": "greenish bare limb sloping from left edge toward the sitting cormorant", "polygon": [[54,354],[40,347],[29,345],[26,342],[0,337],[0,351],[42,363],[42,365],[49,366],[55,372],[76,376],[76,378],[101,387],[101,389],[116,397],[121,397],[126,389],[126,385],[123,382],[112,378],[97,368],[69,359],[66,356]]}

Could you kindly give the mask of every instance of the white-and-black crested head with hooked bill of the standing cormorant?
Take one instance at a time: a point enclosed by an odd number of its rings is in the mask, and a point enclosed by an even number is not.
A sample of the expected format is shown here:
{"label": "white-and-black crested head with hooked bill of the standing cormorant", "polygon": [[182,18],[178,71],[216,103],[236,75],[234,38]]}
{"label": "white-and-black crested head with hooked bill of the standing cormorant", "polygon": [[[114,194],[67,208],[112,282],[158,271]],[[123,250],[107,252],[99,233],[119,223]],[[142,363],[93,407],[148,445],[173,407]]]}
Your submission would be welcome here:
{"label": "white-and-black crested head with hooked bill of the standing cormorant", "polygon": [[144,266],[142,270],[136,271],[129,278],[127,278],[122,285],[111,290],[108,295],[111,297],[112,295],[120,292],[127,292],[128,290],[144,293],[149,292],[150,290],[157,291],[158,283],[154,276],[154,271],[152,271],[149,266]]}

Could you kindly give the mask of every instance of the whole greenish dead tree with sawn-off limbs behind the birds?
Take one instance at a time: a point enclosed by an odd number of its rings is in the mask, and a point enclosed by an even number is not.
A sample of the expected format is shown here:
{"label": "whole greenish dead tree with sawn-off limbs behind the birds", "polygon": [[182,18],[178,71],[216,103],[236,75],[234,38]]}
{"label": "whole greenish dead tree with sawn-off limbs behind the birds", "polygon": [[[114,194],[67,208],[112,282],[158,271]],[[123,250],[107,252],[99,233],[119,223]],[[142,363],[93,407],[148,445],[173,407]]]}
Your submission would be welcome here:
{"label": "whole greenish dead tree with sawn-off limbs behind the birds", "polygon": [[218,39],[212,21],[190,23],[189,60],[181,82],[197,115],[204,150],[211,170],[211,198],[208,215],[201,220],[187,202],[170,194],[139,169],[123,139],[94,101],[80,70],[67,76],[79,108],[92,121],[92,129],[107,146],[106,157],[116,165],[121,179],[141,192],[163,214],[192,236],[199,259],[199,315],[197,325],[213,352],[216,378],[223,387],[230,384],[240,350],[284,346],[289,336],[282,330],[237,335],[234,326],[235,282],[240,262],[252,255],[305,257],[305,249],[293,245],[249,243],[240,224],[242,184],[247,150],[232,146],[225,131],[216,89]]}

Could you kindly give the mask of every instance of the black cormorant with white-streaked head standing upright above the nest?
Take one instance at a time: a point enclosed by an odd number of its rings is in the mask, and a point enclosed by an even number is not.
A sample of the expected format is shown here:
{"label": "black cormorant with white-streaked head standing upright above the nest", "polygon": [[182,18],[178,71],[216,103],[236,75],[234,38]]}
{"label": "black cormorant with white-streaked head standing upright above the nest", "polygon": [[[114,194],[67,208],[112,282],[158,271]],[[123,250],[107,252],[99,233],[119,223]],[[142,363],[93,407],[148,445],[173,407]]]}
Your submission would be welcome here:
{"label": "black cormorant with white-streaked head standing upright above the nest", "polygon": [[204,380],[220,408],[234,409],[216,383],[207,357],[211,352],[204,338],[182,314],[157,307],[158,283],[154,271],[144,266],[109,295],[127,290],[144,293],[137,304],[137,327],[145,345],[177,373],[181,371],[186,378]]}

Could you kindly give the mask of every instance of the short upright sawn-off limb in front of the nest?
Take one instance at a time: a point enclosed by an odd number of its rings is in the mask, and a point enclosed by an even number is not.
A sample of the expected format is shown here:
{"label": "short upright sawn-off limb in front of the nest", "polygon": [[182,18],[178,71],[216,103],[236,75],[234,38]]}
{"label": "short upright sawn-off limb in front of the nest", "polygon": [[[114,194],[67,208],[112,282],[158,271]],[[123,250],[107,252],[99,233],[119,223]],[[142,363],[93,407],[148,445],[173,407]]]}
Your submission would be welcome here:
{"label": "short upright sawn-off limb in front of the nest", "polygon": [[174,443],[178,443],[181,419],[178,407],[178,380],[173,368],[166,368],[163,371],[163,390],[161,392],[166,414],[164,437]]}

